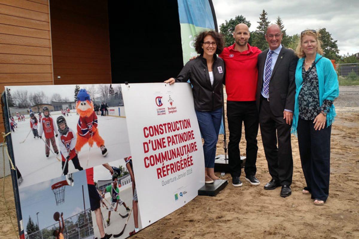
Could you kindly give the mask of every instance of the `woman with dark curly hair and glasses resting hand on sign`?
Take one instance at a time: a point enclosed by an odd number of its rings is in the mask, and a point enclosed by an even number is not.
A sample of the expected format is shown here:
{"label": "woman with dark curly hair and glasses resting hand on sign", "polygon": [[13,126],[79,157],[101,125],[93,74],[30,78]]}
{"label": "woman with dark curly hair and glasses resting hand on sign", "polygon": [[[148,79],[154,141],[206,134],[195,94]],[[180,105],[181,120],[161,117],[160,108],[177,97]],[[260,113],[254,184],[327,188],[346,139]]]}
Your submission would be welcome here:
{"label": "woman with dark curly hair and glasses resting hand on sign", "polygon": [[192,84],[195,111],[204,139],[205,182],[213,183],[219,179],[214,174],[214,159],[219,128],[222,120],[222,90],[225,75],[220,54],[224,48],[223,36],[214,31],[201,32],[195,40],[199,57],[190,60],[176,78],[165,83],[187,82]]}

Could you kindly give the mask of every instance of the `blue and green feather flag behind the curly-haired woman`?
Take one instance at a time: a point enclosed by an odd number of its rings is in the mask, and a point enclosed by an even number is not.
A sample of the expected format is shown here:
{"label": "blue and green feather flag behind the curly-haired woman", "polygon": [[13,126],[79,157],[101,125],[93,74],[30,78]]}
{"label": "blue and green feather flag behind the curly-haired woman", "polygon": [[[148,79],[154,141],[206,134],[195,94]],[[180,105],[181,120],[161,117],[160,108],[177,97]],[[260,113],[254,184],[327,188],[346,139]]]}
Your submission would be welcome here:
{"label": "blue and green feather flag behind the curly-haired woman", "polygon": [[178,0],[181,24],[183,64],[197,56],[194,48],[196,35],[205,30],[214,30],[215,24],[208,0]]}

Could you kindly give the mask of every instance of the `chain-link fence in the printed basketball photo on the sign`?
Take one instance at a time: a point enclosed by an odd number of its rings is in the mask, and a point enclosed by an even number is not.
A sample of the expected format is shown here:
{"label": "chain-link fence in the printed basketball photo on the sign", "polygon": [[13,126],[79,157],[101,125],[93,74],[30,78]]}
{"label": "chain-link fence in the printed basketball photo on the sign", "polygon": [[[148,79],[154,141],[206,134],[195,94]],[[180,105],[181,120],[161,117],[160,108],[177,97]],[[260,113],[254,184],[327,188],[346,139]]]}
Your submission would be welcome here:
{"label": "chain-link fence in the printed basketball photo on the sign", "polygon": [[[91,210],[87,209],[79,214],[64,219],[65,239],[82,239],[94,235]],[[56,239],[53,231],[59,229],[59,223],[55,223],[47,228],[25,235],[25,239]]]}

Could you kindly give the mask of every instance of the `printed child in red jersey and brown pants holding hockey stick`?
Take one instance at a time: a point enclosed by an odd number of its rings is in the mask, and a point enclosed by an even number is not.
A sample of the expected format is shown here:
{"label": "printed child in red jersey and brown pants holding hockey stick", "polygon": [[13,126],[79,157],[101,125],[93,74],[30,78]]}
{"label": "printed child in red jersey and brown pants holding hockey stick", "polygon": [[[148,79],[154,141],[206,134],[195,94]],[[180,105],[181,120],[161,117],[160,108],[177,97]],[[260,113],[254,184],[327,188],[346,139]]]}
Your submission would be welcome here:
{"label": "printed child in red jersey and brown pants holding hockey stick", "polygon": [[50,116],[50,110],[48,109],[48,107],[47,106],[43,107],[42,111],[45,117],[41,120],[41,124],[39,127],[39,136],[41,139],[42,132],[45,135],[45,139],[46,139],[45,154],[46,157],[48,157],[48,155],[50,154],[50,141],[52,144],[53,151],[55,151],[56,154],[59,154],[59,150],[57,149],[55,142],[55,136],[57,137],[59,132],[57,131],[57,126],[55,122]]}

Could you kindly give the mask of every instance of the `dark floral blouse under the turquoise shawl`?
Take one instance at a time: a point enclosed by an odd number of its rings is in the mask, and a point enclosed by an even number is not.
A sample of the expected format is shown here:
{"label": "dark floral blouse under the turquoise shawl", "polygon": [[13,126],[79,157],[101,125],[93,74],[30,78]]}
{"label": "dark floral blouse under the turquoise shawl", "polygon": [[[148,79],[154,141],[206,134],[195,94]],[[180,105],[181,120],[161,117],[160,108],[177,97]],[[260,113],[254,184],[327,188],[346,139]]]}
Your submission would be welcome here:
{"label": "dark floral blouse under the turquoise shawl", "polygon": [[304,120],[314,120],[321,111],[328,113],[333,101],[323,100],[323,105],[319,105],[318,75],[315,65],[306,71],[303,62],[302,77],[303,85],[298,96],[299,117]]}

